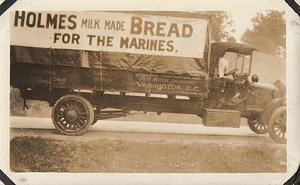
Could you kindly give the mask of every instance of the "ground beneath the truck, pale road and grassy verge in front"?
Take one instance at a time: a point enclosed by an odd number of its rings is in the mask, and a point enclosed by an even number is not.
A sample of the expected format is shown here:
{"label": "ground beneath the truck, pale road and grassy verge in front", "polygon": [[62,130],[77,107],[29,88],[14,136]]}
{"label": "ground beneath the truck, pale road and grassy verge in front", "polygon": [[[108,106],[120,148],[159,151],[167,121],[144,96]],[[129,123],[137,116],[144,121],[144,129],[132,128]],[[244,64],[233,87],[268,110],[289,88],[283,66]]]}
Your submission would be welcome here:
{"label": "ground beneath the truck, pale road and grassy verge in front", "polygon": [[[284,172],[285,145],[249,128],[101,121],[57,134],[48,118],[11,118],[11,169],[55,172]],[[123,125],[122,125],[123,124]]]}

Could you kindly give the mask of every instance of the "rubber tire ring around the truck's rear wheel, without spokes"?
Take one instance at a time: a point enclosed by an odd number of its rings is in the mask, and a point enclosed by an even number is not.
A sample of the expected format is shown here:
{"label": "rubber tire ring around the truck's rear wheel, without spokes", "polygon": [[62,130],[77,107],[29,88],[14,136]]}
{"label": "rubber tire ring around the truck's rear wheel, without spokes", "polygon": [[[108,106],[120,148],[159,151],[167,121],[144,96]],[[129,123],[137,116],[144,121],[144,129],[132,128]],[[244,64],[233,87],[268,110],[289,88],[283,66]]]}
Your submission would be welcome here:
{"label": "rubber tire ring around the truck's rear wheel, without spokes", "polygon": [[[57,108],[58,104],[61,102],[61,101],[64,101],[65,99],[74,99],[74,100],[77,100],[79,102],[81,102],[82,104],[84,104],[85,108],[87,109],[88,111],[88,114],[89,114],[89,120],[87,122],[87,124],[81,129],[79,130],[78,132],[66,132],[65,130],[61,129],[56,123],[55,121],[55,109]],[[62,96],[61,98],[59,98],[54,106],[52,107],[52,115],[51,115],[51,118],[52,118],[52,122],[55,126],[55,128],[61,133],[61,134],[65,134],[65,135],[70,135],[70,136],[79,136],[79,135],[83,135],[87,129],[92,125],[93,121],[94,121],[94,110],[93,110],[93,106],[91,105],[91,103],[85,99],[84,97],[82,96],[78,96],[78,95],[73,95],[73,94],[70,94],[70,95],[65,95],[65,96]]]}

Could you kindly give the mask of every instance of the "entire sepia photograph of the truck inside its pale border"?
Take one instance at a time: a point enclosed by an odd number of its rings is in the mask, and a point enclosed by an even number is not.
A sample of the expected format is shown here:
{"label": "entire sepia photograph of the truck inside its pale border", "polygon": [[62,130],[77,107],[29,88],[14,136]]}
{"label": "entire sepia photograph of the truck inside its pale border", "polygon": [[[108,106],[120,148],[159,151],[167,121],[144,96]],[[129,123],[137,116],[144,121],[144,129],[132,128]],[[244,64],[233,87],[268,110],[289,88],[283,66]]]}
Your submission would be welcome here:
{"label": "entire sepia photograph of the truck inside its pale border", "polygon": [[285,173],[285,17],[11,11],[10,170]]}

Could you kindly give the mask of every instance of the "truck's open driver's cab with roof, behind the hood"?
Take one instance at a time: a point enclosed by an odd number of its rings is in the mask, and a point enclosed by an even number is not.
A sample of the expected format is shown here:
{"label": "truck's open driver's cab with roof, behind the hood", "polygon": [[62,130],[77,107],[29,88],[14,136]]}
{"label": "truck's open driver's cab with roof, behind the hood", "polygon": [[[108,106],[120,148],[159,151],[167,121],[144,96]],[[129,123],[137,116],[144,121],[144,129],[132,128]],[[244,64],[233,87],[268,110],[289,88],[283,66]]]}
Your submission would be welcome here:
{"label": "truck's open driver's cab with roof, behind the hood", "polygon": [[236,109],[247,102],[251,85],[258,80],[257,75],[249,79],[253,51],[240,43],[211,44],[210,107]]}

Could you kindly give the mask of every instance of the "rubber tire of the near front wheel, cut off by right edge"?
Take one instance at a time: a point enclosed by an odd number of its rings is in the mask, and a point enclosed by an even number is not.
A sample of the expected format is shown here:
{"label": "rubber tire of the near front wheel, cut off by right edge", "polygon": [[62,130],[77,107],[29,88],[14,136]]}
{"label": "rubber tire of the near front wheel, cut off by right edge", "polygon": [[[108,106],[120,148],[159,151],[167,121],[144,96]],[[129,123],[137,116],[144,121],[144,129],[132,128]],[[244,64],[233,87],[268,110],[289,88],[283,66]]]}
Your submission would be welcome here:
{"label": "rubber tire of the near front wheel, cut off by right edge", "polygon": [[[277,143],[282,143],[282,144],[285,144],[286,143],[286,139],[280,139],[276,136],[275,132],[274,132],[274,129],[273,129],[273,125],[274,125],[274,122],[275,122],[275,119],[280,115],[282,114],[282,112],[286,112],[286,107],[283,106],[283,107],[279,107],[277,109],[275,109],[271,115],[271,118],[270,118],[270,122],[268,124],[268,131],[269,131],[269,135],[270,137]],[[286,125],[286,120],[285,120],[285,125]],[[286,132],[286,131],[285,131]],[[286,133],[285,133],[286,135]]]}

